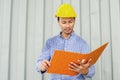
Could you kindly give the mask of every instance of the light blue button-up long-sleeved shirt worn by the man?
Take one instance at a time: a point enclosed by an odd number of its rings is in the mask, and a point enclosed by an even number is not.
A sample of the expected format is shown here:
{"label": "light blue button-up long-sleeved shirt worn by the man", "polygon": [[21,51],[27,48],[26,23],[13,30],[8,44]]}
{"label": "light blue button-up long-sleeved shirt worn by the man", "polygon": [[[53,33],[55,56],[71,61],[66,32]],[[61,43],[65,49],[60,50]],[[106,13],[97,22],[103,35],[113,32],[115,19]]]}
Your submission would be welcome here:
{"label": "light blue button-up long-sleeved shirt worn by the man", "polygon": [[[39,69],[40,63],[42,60],[50,60],[54,50],[65,50],[78,53],[88,53],[89,47],[88,44],[74,32],[69,36],[68,39],[65,39],[61,34],[54,36],[47,40],[44,48],[41,51],[41,55],[37,60],[37,71],[41,72]],[[76,76],[60,75],[60,74],[51,74],[50,80],[85,80],[85,78],[91,78],[95,73],[94,66],[89,68],[89,73],[87,75],[78,74]]]}

